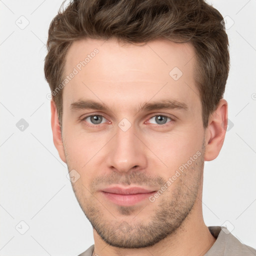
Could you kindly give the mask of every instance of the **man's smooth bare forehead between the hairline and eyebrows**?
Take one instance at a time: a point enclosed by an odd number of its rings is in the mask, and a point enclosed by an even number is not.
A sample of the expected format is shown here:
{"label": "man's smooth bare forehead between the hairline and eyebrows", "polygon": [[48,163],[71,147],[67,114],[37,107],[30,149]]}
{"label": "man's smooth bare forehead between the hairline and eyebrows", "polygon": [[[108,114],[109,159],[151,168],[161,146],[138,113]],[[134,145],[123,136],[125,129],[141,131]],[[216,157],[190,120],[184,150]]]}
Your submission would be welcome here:
{"label": "man's smooth bare forehead between the hairline and eyebrows", "polygon": [[166,39],[146,44],[113,38],[75,41],[65,58],[64,77],[75,75],[63,88],[63,106],[83,97],[117,105],[162,96],[191,105],[199,100],[194,56],[190,43]]}

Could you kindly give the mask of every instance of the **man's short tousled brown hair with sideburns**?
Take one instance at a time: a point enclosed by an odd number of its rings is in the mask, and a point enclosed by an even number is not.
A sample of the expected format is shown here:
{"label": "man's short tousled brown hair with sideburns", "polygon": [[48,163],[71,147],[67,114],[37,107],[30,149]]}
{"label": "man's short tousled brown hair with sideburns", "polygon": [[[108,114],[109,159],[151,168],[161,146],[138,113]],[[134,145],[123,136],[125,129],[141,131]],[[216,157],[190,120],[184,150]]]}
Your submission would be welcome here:
{"label": "man's short tousled brown hair with sideburns", "polygon": [[[129,43],[153,39],[189,41],[195,49],[196,85],[203,127],[223,97],[229,71],[223,17],[203,0],[73,0],[62,3],[50,23],[44,73],[51,92],[62,81],[65,55],[75,40],[116,38]],[[62,120],[62,90],[52,93]]]}

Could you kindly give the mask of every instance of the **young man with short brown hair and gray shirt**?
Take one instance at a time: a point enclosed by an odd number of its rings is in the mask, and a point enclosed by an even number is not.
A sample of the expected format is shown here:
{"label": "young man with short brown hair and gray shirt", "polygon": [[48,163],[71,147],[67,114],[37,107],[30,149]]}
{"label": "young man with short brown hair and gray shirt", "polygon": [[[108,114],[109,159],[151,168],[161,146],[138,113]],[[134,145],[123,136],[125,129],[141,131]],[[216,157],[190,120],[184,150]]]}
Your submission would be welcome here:
{"label": "young man with short brown hair and gray shirt", "polygon": [[74,0],[52,20],[53,141],[93,227],[80,255],[255,255],[202,216],[227,127],[222,20],[202,0]]}

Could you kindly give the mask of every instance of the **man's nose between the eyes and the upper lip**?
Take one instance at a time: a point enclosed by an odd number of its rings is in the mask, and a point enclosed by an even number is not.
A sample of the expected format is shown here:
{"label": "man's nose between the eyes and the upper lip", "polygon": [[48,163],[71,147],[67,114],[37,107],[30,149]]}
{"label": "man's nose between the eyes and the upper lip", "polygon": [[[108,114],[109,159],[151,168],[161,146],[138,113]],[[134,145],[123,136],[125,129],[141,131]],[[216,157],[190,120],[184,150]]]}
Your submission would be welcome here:
{"label": "man's nose between the eyes and the upper lip", "polygon": [[116,135],[111,139],[107,154],[108,167],[119,172],[129,172],[146,168],[146,146],[131,126],[123,131],[117,127]]}

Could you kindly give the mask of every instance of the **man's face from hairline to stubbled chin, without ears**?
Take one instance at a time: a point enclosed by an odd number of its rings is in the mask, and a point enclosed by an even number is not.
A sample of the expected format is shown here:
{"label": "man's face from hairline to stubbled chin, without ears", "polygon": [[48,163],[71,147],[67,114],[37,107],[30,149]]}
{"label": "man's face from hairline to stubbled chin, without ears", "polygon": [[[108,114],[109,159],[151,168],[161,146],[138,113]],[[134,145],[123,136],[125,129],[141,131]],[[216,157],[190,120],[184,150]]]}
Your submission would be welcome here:
{"label": "man's face from hairline to stubbled chin, without ears", "polygon": [[67,52],[64,75],[75,74],[62,94],[62,159],[79,177],[72,187],[83,212],[110,245],[153,245],[197,201],[204,129],[193,56],[189,43],[168,40],[83,39]]}

